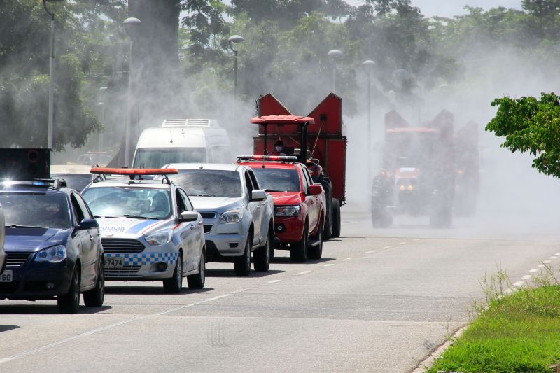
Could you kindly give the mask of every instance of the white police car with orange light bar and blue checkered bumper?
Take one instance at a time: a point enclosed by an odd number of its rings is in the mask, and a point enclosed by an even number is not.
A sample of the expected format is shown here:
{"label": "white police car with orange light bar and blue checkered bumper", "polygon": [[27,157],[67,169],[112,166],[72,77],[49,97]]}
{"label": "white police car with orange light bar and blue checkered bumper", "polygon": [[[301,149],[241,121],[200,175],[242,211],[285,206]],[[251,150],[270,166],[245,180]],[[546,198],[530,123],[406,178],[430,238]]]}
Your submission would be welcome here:
{"label": "white police car with orange light bar and blue checkered bumper", "polygon": [[[179,293],[205,281],[202,216],[183,188],[167,175],[174,169],[92,168],[92,174],[129,176],[98,181],[83,197],[99,220],[108,280],[163,281],[166,293]],[[145,180],[144,176],[163,179]]]}

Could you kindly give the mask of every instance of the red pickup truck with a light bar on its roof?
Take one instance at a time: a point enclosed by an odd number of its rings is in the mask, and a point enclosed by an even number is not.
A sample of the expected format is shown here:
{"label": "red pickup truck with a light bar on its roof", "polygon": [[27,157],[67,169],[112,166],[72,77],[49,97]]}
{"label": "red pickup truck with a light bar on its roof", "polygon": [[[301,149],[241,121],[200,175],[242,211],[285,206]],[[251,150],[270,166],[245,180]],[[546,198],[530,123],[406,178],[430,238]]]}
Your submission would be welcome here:
{"label": "red pickup truck with a light bar on its roof", "polygon": [[311,180],[294,156],[239,155],[265,192],[274,199],[274,248],[290,250],[290,260],[305,262],[323,255],[325,191]]}

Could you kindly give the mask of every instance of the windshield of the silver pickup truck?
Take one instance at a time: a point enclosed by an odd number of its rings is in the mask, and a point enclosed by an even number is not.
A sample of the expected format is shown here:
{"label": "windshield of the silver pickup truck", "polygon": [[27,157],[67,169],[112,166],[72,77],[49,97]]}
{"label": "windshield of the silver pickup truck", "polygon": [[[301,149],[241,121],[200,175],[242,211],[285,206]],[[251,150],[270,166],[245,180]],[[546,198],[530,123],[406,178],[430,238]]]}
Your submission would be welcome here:
{"label": "windshield of the silver pickup truck", "polygon": [[241,178],[237,171],[182,169],[173,176],[190,196],[241,197]]}

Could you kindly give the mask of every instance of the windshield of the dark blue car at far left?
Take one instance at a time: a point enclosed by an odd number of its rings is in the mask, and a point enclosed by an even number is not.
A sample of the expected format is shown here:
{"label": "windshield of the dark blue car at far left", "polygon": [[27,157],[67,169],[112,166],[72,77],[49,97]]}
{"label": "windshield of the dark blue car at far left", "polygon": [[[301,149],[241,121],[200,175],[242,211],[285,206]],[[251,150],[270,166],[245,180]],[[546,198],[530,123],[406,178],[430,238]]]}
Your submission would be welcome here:
{"label": "windshield of the dark blue car at far left", "polygon": [[0,192],[0,203],[6,227],[71,227],[66,193]]}

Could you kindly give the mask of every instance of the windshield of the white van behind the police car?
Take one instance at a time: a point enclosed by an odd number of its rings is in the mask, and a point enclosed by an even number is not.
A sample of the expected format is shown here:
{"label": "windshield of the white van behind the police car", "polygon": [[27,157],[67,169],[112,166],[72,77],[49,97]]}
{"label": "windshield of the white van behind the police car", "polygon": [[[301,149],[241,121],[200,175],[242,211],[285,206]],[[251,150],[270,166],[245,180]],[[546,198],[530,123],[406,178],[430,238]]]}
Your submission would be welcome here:
{"label": "windshield of the white van behind the police car", "polygon": [[204,148],[139,148],[134,156],[134,168],[159,169],[168,163],[205,162]]}

